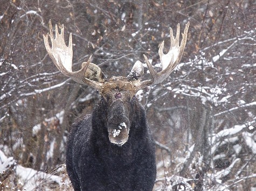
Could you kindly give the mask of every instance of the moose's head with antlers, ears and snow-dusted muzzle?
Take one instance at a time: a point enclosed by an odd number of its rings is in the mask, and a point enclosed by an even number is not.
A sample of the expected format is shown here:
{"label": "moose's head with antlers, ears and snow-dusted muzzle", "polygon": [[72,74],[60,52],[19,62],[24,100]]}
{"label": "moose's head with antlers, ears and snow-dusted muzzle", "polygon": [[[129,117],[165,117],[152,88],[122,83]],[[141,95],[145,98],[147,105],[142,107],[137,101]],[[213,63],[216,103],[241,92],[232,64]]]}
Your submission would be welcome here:
{"label": "moose's head with antlers, ears and snow-dusted muzzle", "polygon": [[[140,78],[143,75],[143,64],[140,61],[135,62],[127,77],[118,76],[106,79],[98,65],[91,62],[92,56],[88,58],[87,62],[81,64],[79,71],[72,71],[72,34],[70,34],[69,43],[66,46],[64,41],[64,25],[61,26],[60,34],[56,25],[55,38],[53,36],[51,20],[49,21],[49,28],[50,33],[44,35],[44,43],[53,63],[65,76],[70,77],[80,84],[92,86],[99,91],[108,108],[106,127],[109,141],[116,145],[123,145],[129,137],[136,92],[144,87],[161,83],[171,74],[179,61],[181,61],[186,44],[189,22],[185,25],[181,45],[179,45],[179,24],[177,25],[176,38],[174,38],[172,29],[170,28],[171,46],[167,54],[163,53],[164,41],[161,43],[158,54],[162,64],[162,71],[156,72],[148,61],[147,56],[144,55],[151,79],[142,81]],[[49,45],[49,37],[51,47]]]}

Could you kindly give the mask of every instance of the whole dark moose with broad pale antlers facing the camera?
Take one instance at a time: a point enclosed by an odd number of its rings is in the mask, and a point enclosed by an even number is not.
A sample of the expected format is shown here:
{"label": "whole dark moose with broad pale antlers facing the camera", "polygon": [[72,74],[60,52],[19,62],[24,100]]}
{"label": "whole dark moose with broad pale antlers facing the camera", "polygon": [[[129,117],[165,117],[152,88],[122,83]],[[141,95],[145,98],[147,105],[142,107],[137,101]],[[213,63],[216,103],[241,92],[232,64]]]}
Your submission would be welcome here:
{"label": "whole dark moose with broad pale antlers facing the camera", "polygon": [[[94,87],[101,95],[92,114],[72,124],[66,146],[66,168],[74,190],[152,190],[156,179],[155,142],[147,124],[146,112],[136,92],[161,83],[174,70],[184,52],[189,22],[185,25],[179,46],[170,28],[171,46],[163,53],[164,41],[158,50],[162,71],[156,72],[146,55],[144,59],[151,79],[140,80],[143,64],[136,61],[127,77],[105,78],[98,65],[81,64],[72,71],[72,34],[66,46],[64,25],[61,32],[51,20],[50,33],[44,35],[44,44],[53,63],[62,74],[75,82]],[[49,37],[51,46],[49,45]]]}

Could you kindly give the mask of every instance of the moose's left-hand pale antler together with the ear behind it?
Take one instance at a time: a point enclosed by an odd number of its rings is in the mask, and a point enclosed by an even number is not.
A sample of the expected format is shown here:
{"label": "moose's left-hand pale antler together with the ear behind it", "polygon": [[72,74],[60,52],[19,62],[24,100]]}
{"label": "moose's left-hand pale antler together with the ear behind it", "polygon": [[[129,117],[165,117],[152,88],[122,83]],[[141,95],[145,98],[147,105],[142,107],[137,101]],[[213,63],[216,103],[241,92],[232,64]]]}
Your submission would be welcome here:
{"label": "moose's left-hand pale antler together with the ear behind it", "polygon": [[[89,57],[87,62],[82,63],[82,68],[79,71],[73,72],[72,33],[70,33],[68,46],[66,46],[64,40],[64,25],[61,25],[60,33],[58,32],[58,26],[55,25],[55,38],[53,37],[51,20],[49,20],[49,30],[50,33],[43,35],[45,48],[49,56],[52,58],[53,63],[60,70],[60,72],[65,76],[70,77],[75,82],[92,86],[95,89],[101,91],[104,82],[104,76],[101,72],[101,69],[97,65],[91,63],[92,56]],[[52,47],[49,45],[49,37]],[[89,68],[89,70],[87,70],[87,68]]]}

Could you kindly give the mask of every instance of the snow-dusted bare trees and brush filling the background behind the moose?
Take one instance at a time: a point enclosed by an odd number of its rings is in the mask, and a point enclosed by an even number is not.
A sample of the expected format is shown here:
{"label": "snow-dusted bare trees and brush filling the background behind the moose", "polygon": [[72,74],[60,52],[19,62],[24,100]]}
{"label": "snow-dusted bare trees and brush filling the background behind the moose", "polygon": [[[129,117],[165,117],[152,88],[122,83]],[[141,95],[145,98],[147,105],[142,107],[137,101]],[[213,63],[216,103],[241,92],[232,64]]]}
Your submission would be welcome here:
{"label": "snow-dusted bare trees and brush filling the background behind the moose", "polygon": [[158,142],[155,189],[255,187],[253,6],[252,0],[4,1],[0,150],[19,165],[51,172],[65,161],[71,123],[98,99],[91,87],[74,85],[52,67],[43,43],[49,19],[73,34],[74,70],[92,53],[107,77],[125,76],[143,54],[160,63],[168,27],[190,21],[177,69],[137,93]]}

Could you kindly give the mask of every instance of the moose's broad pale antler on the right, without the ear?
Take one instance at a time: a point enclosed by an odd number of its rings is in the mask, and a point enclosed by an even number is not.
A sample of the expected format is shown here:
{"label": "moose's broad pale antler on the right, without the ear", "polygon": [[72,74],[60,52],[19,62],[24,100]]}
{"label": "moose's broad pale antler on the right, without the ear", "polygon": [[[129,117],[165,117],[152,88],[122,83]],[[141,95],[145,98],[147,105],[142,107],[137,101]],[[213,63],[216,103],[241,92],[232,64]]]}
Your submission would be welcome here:
{"label": "moose's broad pale antler on the right, without the ear", "polygon": [[170,27],[171,46],[169,52],[167,54],[163,53],[164,41],[161,43],[160,48],[158,50],[158,54],[160,56],[162,64],[162,71],[156,72],[152,65],[149,63],[147,56],[144,55],[145,61],[148,66],[148,70],[151,75],[151,79],[144,80],[143,82],[138,82],[137,84],[135,84],[137,90],[143,89],[144,87],[147,87],[149,85],[161,83],[165,78],[167,78],[171,74],[171,72],[174,70],[179,61],[181,61],[186,45],[188,30],[189,22],[185,25],[184,34],[182,33],[181,46],[179,46],[180,26],[179,24],[177,25],[176,38],[174,38],[172,28]]}

